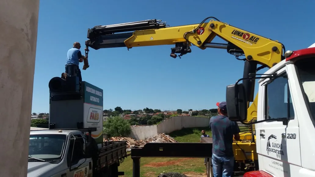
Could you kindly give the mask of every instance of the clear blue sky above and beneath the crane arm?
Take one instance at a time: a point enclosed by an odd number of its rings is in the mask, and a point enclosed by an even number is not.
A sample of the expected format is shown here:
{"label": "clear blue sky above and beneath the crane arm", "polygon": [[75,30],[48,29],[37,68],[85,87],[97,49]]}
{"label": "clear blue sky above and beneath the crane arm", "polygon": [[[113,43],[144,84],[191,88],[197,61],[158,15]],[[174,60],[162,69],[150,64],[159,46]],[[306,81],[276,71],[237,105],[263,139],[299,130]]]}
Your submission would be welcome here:
{"label": "clear blue sky above and beneath the crane arm", "polygon": [[[315,42],[314,5],[313,0],[41,0],[32,112],[49,112],[49,80],[64,72],[66,53],[74,41],[84,52],[87,30],[95,25],[162,19],[177,26],[214,16],[278,40],[286,50],[297,50]],[[104,109],[187,110],[215,108],[216,102],[225,100],[226,86],[243,76],[243,62],[226,50],[193,46],[192,53],[174,59],[169,56],[171,47],[90,49],[90,67],[81,70],[83,80],[103,89]]]}

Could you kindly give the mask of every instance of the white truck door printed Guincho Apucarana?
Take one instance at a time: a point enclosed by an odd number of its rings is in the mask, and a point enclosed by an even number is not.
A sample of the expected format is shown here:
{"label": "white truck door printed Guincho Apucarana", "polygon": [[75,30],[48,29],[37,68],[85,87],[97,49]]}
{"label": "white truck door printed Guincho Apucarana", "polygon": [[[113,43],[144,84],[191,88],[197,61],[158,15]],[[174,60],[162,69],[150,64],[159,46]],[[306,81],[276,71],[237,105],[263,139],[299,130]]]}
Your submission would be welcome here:
{"label": "white truck door printed Guincho Apucarana", "polygon": [[[288,118],[283,122],[263,122],[257,126],[257,141],[260,141],[263,164],[259,169],[275,176],[295,176],[296,165],[301,166],[299,124],[295,115],[294,101],[291,99],[290,84],[286,67],[277,72],[284,75],[276,79],[266,79],[260,83],[262,99],[258,120]],[[293,101],[293,102],[292,102]]]}

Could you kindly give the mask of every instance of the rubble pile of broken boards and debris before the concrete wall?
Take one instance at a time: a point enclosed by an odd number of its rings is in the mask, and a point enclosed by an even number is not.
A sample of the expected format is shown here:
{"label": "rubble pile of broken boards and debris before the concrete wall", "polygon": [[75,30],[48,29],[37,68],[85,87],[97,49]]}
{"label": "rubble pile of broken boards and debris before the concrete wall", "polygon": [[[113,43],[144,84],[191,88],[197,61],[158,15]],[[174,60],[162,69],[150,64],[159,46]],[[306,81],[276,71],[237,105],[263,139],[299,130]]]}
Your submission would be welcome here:
{"label": "rubble pile of broken boards and debris before the concrete wall", "polygon": [[110,137],[108,139],[104,139],[103,141],[127,141],[127,151],[130,151],[132,147],[143,147],[147,142],[177,142],[169,135],[157,134],[152,138],[148,138],[145,141],[142,140],[135,140],[129,137]]}

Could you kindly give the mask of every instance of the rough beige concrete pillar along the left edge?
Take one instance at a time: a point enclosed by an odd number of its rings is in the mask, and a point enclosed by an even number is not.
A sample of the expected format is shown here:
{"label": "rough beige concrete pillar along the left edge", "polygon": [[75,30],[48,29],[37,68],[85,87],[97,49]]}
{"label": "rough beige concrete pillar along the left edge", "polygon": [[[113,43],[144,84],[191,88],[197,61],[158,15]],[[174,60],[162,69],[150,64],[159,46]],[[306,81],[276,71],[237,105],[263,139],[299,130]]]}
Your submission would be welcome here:
{"label": "rough beige concrete pillar along the left edge", "polygon": [[0,1],[0,176],[27,175],[39,0]]}

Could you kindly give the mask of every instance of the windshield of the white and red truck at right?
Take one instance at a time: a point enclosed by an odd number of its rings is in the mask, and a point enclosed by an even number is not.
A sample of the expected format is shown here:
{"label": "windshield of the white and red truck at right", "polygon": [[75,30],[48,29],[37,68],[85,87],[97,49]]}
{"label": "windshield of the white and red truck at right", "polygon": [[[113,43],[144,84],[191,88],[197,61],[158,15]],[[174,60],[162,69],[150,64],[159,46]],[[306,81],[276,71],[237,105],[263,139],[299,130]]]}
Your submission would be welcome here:
{"label": "windshield of the white and red truck at right", "polygon": [[[297,75],[306,107],[312,119],[315,118],[315,58],[305,58],[295,62]],[[315,121],[315,120],[314,120]]]}

